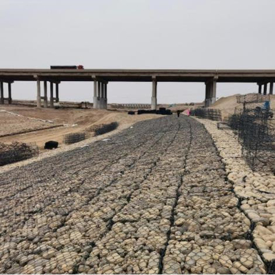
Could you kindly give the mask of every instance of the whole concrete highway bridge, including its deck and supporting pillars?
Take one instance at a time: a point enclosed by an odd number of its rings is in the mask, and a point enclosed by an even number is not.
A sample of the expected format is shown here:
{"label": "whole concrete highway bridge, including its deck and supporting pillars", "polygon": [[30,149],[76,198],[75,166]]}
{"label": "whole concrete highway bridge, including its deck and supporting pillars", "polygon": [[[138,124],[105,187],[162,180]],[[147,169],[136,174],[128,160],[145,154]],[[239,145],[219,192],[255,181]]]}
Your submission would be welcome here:
{"label": "whole concrete highway bridge, including its deck and supporting pillars", "polygon": [[[50,83],[50,107],[59,102],[61,81],[93,82],[95,109],[107,109],[107,86],[111,81],[151,82],[151,109],[156,109],[158,82],[201,82],[205,83],[205,107],[216,101],[216,83],[257,83],[258,93],[273,94],[275,70],[215,70],[215,69],[0,69],[0,102],[12,103],[14,81],[37,82],[37,107],[48,107],[48,82]],[[43,81],[43,96],[41,96]],[[8,83],[8,98],[4,97],[3,83]],[[54,96],[55,85],[55,96]],[[263,88],[263,89],[262,89]]]}

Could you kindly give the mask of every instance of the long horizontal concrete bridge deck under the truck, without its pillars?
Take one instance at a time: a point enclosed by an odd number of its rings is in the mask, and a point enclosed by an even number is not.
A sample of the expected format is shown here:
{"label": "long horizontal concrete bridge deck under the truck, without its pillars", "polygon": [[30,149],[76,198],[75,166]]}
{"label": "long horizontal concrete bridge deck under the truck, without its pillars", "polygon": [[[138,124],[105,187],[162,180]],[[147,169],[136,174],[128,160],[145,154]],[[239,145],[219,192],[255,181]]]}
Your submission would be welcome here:
{"label": "long horizontal concrete bridge deck under the truck, without its pillars", "polygon": [[275,70],[215,69],[0,69],[0,79],[7,81],[41,80],[92,81],[96,76],[105,81],[151,82],[217,82],[255,83],[275,81]]}

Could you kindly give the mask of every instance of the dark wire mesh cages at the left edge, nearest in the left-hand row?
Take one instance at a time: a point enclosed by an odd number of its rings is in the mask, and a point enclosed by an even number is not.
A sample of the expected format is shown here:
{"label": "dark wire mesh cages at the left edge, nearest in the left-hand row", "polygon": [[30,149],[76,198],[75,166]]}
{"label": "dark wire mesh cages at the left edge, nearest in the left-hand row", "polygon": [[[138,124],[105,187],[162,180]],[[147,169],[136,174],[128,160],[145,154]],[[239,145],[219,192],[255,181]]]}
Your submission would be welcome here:
{"label": "dark wire mesh cages at the left edge, nearest in the left-hand row", "polygon": [[0,166],[19,162],[39,155],[39,148],[36,144],[13,142],[12,144],[0,143]]}

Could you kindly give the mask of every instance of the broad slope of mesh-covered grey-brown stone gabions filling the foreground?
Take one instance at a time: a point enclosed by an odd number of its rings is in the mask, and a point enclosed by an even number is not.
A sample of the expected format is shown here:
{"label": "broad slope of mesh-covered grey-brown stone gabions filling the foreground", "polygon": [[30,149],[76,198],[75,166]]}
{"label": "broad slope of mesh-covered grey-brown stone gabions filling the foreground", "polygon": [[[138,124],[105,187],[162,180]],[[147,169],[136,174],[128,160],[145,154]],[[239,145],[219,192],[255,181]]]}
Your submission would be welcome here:
{"label": "broad slope of mesh-covered grey-brown stone gabions filling the foreground", "polygon": [[0,174],[0,273],[265,273],[202,124],[176,115]]}

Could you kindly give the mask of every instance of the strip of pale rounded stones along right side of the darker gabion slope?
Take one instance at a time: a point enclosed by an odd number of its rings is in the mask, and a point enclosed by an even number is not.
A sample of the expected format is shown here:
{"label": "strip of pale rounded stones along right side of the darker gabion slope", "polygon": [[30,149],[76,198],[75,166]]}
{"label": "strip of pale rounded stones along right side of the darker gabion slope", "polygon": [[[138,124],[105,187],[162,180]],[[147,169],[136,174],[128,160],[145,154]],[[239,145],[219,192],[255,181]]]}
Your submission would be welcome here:
{"label": "strip of pale rounded stones along right side of the darker gabion slope", "polygon": [[232,182],[241,210],[253,225],[253,241],[274,273],[275,260],[275,176],[253,172],[242,158],[241,144],[233,131],[221,131],[214,122],[200,120],[212,135],[223,157],[227,177]]}

